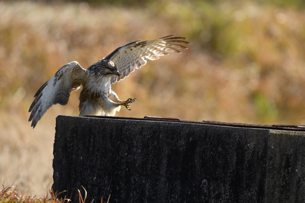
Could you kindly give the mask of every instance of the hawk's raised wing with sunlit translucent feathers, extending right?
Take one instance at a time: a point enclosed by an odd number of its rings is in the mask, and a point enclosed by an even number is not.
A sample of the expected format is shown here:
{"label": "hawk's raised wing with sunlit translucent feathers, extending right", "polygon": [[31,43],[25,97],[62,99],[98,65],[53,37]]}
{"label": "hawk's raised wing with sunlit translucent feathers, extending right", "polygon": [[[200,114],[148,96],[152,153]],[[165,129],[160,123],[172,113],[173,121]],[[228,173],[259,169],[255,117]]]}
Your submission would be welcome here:
{"label": "hawk's raised wing with sunlit translucent feathers, extending right", "polygon": [[162,37],[156,40],[137,40],[121,46],[106,56],[103,60],[111,60],[119,69],[120,76],[111,77],[111,84],[119,82],[127,77],[135,68],[146,64],[146,59],[156,60],[160,56],[168,55],[168,52],[181,53],[177,49],[187,49],[180,44],[190,44],[183,41],[185,37]]}

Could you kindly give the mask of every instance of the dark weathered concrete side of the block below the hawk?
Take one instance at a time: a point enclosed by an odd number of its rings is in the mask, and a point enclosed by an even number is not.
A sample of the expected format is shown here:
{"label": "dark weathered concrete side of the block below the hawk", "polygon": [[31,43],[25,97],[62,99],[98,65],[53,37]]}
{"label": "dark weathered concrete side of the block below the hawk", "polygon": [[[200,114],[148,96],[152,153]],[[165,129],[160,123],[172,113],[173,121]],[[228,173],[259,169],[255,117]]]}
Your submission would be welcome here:
{"label": "dark weathered concrete side of the block below the hawk", "polygon": [[53,189],[82,185],[86,202],[305,202],[304,135],[58,116]]}

